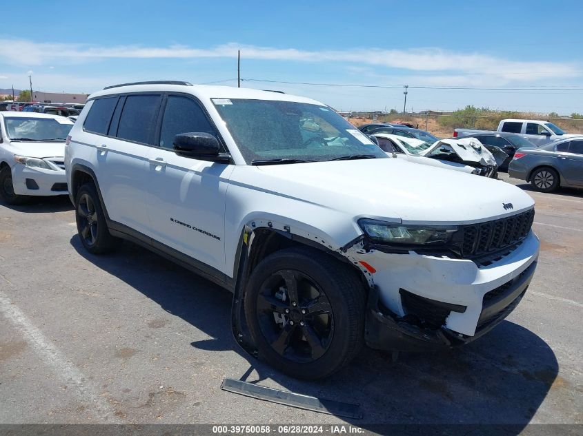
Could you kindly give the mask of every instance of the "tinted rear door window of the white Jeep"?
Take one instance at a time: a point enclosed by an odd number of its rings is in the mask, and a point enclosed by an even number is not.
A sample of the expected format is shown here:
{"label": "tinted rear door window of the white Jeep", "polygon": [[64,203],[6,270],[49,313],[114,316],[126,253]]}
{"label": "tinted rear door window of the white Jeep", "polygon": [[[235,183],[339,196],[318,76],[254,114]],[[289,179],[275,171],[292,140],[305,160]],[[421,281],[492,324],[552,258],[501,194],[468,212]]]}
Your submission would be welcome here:
{"label": "tinted rear door window of the white Jeep", "polygon": [[119,118],[117,137],[154,145],[159,95],[130,95]]}

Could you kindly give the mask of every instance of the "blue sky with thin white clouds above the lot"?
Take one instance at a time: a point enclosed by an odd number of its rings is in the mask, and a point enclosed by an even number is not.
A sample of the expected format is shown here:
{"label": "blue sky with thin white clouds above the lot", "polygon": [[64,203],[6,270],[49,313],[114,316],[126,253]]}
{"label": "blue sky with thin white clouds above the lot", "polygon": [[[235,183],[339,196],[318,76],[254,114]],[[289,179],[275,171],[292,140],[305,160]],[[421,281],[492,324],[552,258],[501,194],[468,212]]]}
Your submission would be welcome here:
{"label": "blue sky with thin white clouds above the lot", "polygon": [[409,85],[408,111],[583,112],[581,1],[52,0],[3,12],[19,25],[0,30],[0,87],[27,89],[29,72],[47,92],[159,79],[236,86],[240,49],[242,79],[395,86],[241,84],[339,110],[402,110]]}

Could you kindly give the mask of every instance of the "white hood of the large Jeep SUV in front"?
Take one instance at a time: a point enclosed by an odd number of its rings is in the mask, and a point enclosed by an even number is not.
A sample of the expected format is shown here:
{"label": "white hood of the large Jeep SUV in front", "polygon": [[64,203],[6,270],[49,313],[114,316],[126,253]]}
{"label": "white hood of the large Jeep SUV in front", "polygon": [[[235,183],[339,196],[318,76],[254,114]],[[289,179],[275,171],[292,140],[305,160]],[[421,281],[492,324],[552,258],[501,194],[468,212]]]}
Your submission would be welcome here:
{"label": "white hood of the large Jeep SUV in front", "polygon": [[[509,216],[534,205],[522,189],[501,180],[391,158],[238,165],[231,180],[353,218],[458,224]],[[513,209],[505,210],[503,203],[512,203]]]}

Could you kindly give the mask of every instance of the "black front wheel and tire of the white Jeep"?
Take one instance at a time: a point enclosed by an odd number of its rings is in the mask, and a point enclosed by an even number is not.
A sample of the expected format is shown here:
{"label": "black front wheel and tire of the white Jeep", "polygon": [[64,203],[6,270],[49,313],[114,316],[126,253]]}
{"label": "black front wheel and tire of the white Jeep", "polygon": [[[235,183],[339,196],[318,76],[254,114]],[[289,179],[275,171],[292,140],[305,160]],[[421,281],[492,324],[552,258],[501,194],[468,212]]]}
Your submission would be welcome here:
{"label": "black front wheel and tire of the white Jeep", "polygon": [[253,270],[245,315],[259,357],[315,380],[346,366],[364,342],[365,291],[357,272],[322,251],[277,251]]}

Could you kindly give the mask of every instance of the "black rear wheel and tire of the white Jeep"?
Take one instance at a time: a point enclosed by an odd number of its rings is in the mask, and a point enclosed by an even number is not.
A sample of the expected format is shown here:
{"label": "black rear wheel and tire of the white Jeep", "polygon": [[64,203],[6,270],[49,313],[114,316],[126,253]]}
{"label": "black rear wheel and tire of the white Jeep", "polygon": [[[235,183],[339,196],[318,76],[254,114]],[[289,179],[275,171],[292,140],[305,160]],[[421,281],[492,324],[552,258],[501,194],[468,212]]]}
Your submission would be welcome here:
{"label": "black rear wheel and tire of the white Jeep", "polygon": [[75,198],[75,220],[81,244],[92,254],[109,253],[119,243],[109,233],[97,188],[92,183],[82,185]]}

